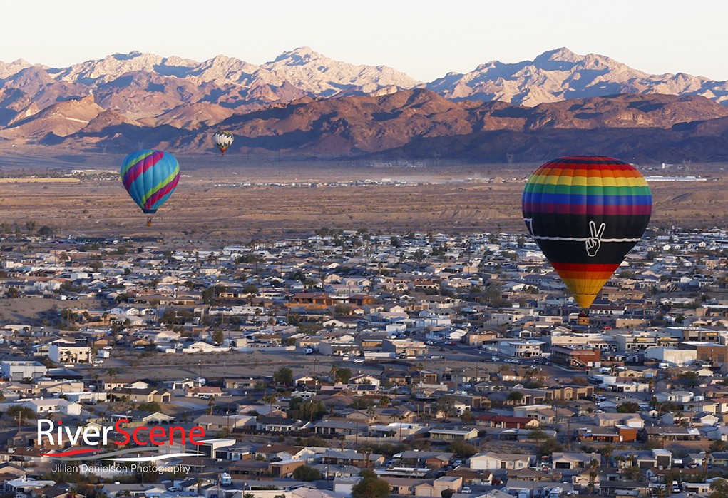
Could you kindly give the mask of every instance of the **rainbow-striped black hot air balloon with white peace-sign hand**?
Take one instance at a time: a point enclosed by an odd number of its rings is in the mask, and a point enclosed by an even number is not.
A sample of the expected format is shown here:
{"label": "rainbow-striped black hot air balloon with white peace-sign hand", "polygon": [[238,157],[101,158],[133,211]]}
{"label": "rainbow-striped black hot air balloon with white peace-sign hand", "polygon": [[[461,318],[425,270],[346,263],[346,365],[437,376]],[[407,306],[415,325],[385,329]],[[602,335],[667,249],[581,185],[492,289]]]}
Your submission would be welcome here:
{"label": "rainbow-striped black hot air balloon with white peace-sign hand", "polygon": [[523,220],[580,307],[642,237],[652,214],[644,177],[612,157],[560,157],[523,189]]}

